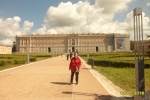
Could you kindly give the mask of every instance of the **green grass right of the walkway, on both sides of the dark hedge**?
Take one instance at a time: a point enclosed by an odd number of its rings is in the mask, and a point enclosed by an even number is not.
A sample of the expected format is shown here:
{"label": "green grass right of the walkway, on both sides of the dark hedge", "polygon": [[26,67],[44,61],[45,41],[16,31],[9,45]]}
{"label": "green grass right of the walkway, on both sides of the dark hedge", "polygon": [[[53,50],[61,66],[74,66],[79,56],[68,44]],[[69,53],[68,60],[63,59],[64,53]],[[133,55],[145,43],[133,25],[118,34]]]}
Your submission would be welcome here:
{"label": "green grass right of the walkway, on both sides of the dark hedge", "polygon": [[[80,56],[84,60],[88,60],[87,54],[83,53]],[[106,60],[106,61],[116,61],[116,62],[129,62],[134,63],[133,53],[89,53],[89,58],[94,58],[94,60]],[[150,64],[150,58],[145,56],[144,63]],[[117,67],[104,67],[104,66],[94,66],[99,73],[106,76],[114,84],[121,87],[125,91],[136,91],[136,80],[135,80],[135,68],[117,68]],[[150,68],[145,68],[145,90],[150,90]]]}

